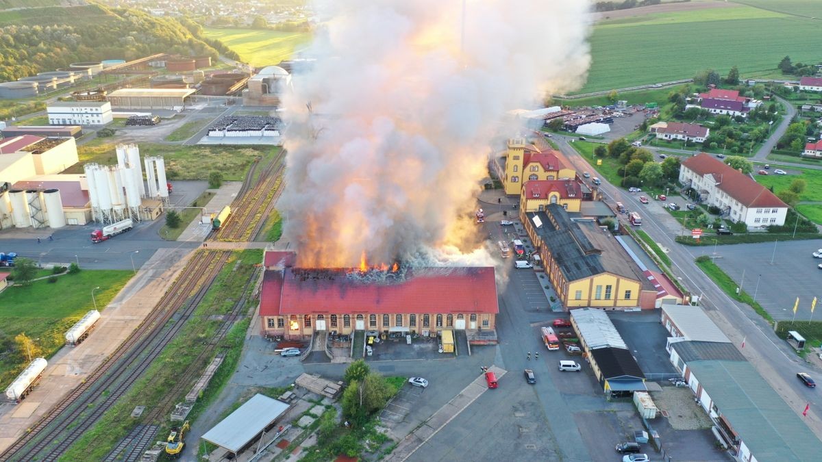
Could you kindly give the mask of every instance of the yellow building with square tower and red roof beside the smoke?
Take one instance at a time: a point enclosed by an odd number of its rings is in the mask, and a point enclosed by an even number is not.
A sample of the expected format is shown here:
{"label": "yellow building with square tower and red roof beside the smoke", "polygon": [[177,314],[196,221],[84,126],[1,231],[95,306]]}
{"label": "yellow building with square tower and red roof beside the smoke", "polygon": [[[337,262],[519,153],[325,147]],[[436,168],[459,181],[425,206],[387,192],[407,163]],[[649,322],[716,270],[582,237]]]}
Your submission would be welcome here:
{"label": "yellow building with square tower and red roof beside the smoke", "polygon": [[560,152],[549,147],[540,150],[525,138],[511,138],[506,150],[502,184],[506,194],[520,195],[524,182],[533,180],[574,179],[576,171]]}

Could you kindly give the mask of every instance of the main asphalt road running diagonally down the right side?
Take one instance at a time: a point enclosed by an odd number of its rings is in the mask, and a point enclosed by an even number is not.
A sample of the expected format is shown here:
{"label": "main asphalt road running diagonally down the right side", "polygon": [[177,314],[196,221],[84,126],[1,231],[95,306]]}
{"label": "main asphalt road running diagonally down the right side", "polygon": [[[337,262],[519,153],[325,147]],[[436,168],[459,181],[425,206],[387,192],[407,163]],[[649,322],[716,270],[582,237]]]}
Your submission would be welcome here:
{"label": "main asphalt road running diagonally down the right side", "polygon": [[[553,139],[577,170],[594,170],[568,145],[565,137],[555,136]],[[626,192],[605,180],[600,189],[609,201],[620,201],[630,210],[645,210],[646,216],[644,216],[642,229],[649,233],[661,247],[668,249],[668,256],[673,261],[672,272],[677,279],[681,280],[691,293],[701,295],[701,306],[732,342],[741,346],[743,339],[745,340],[745,347],[741,348],[741,352],[769,382],[770,386],[777,390],[791,409],[801,417],[805,405],[810,404],[808,415],[802,419],[817,437],[822,438],[822,412],[820,412],[822,411],[820,409],[822,400],[815,390],[802,386],[796,380],[796,373],[799,371],[815,373],[816,376],[822,376],[822,371],[797,357],[787,342],[779,339],[767,322],[750,307],[728,297],[716,284],[713,284],[708,276],[704,275],[702,270],[695,265],[694,259],[703,252],[705,247],[686,247],[676,243],[674,237],[681,233],[681,225],[665,210],[662,210],[658,202],[652,201],[648,205],[643,205],[638,199],[639,194]],[[739,244],[730,247],[744,248],[746,245]],[[815,243],[810,244],[811,247],[813,245]],[[718,249],[718,252],[723,252],[723,250]],[[760,290],[778,291],[780,289],[769,285],[768,289],[760,288]]]}

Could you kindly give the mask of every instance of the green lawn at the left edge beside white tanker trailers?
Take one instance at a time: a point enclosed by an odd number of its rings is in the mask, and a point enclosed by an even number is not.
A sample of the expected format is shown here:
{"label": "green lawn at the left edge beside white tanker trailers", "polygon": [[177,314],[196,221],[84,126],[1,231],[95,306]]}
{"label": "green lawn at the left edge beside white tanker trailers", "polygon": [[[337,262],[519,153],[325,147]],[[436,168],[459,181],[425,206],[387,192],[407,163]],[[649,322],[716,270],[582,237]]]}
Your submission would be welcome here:
{"label": "green lawn at the left edge beside white tanker trailers", "polygon": [[[25,332],[49,358],[65,343],[66,331],[94,309],[91,289],[99,286],[95,300],[103,310],[131,277],[132,271],[81,270],[58,276],[55,283],[39,280],[29,287],[10,287],[0,293],[0,335],[14,339]],[[26,363],[28,358],[11,351],[0,356],[0,387],[11,383]]]}

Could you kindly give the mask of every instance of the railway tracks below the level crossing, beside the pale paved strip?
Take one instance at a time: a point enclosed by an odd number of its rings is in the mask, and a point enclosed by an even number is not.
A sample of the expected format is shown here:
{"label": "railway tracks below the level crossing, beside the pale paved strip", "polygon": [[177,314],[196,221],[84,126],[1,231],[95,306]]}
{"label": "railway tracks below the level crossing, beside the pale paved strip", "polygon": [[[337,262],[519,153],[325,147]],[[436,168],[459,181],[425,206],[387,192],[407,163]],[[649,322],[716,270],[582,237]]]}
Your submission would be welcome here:
{"label": "railway tracks below the level crossing, beside the pale paved strip", "polygon": [[[190,316],[205,295],[229,254],[230,252],[218,251],[197,252],[172,288],[132,335],[80,386],[72,390],[62,403],[31,427],[30,432],[5,450],[0,459],[57,460],[86,429],[111,408],[173,339],[186,317]],[[182,316],[165,330],[166,324],[181,308]],[[109,394],[105,395],[106,392]],[[99,396],[104,396],[103,402],[95,403]],[[81,413],[84,409],[91,411],[84,415]]]}

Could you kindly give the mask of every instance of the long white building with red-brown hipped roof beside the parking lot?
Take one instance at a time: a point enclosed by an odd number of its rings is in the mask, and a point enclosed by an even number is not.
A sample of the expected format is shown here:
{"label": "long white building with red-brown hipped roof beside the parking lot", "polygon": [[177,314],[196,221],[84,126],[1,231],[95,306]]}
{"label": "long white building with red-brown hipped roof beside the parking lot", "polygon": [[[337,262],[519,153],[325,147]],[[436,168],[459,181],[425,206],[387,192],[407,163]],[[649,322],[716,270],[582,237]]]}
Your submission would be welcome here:
{"label": "long white building with red-brown hipped roof beside the parking lot", "polygon": [[705,153],[682,161],[679,182],[693,187],[708,206],[749,228],[785,224],[787,204],[767,187]]}

